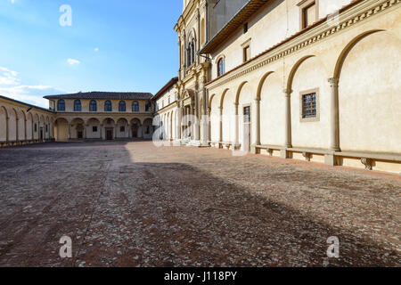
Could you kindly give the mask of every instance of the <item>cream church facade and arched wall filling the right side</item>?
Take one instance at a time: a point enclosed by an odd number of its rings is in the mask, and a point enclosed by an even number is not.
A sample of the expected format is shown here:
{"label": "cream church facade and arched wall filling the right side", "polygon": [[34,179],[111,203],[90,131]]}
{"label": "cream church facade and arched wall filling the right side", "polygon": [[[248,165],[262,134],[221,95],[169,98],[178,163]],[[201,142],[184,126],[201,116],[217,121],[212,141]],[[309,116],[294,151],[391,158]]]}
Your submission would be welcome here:
{"label": "cream church facade and arched wall filling the right side", "polygon": [[400,6],[184,0],[174,139],[401,173]]}

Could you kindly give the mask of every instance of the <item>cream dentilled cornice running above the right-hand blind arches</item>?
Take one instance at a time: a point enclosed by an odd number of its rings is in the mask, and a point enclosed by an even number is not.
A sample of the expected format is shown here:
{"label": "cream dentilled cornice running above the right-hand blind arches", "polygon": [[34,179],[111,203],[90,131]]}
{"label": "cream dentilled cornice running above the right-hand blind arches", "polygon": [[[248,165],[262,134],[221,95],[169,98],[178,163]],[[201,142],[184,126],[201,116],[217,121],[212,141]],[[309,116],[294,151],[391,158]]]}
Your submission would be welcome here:
{"label": "cream dentilled cornice running above the right-hand blind arches", "polygon": [[301,31],[298,37],[295,35],[295,37],[290,38],[290,40],[284,40],[283,43],[275,45],[273,48],[264,53],[260,53],[250,61],[228,71],[224,76],[217,77],[210,81],[206,86],[211,89],[220,85],[225,85],[238,77],[242,77],[252,71],[261,69],[267,64],[278,61],[291,53],[299,52],[309,45],[313,45],[327,37],[331,37],[344,29],[356,25],[356,23],[366,20],[373,15],[389,9],[389,7],[400,3],[401,0],[368,0],[362,1],[358,4],[353,4],[351,8],[344,12],[340,12],[340,23],[338,25],[328,28],[326,24],[328,17],[319,20],[315,27],[310,28],[307,31]]}

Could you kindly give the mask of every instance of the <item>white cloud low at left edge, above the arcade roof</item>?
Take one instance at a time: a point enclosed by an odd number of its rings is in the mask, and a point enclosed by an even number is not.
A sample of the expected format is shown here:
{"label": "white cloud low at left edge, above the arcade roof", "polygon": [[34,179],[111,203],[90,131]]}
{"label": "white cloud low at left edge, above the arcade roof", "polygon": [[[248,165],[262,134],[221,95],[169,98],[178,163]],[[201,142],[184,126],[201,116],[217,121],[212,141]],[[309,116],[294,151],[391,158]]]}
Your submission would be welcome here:
{"label": "white cloud low at left edge, above the arcade roof", "polygon": [[48,108],[45,95],[62,94],[61,90],[49,85],[20,85],[18,72],[0,67],[0,95],[14,100]]}

